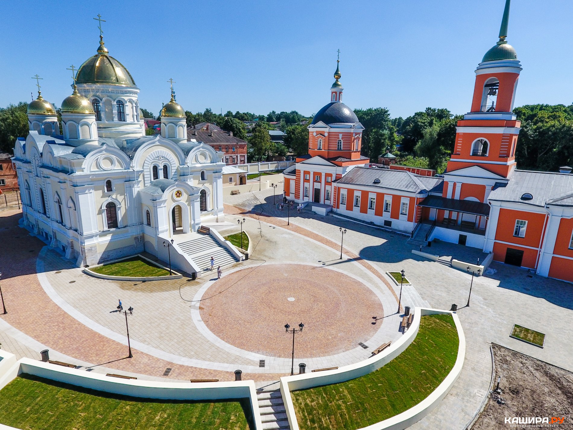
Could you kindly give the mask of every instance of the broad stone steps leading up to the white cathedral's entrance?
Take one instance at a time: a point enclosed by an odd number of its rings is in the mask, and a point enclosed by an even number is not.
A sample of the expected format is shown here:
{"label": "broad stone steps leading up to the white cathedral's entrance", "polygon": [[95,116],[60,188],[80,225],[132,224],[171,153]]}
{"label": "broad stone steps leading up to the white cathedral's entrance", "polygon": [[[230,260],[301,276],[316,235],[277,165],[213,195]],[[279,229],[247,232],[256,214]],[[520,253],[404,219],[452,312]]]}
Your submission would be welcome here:
{"label": "broad stone steps leading up to the white cathedral's entrance", "polygon": [[238,261],[210,234],[194,233],[192,239],[179,242],[177,246],[189,255],[203,272],[211,270],[211,257],[215,259],[215,269]]}

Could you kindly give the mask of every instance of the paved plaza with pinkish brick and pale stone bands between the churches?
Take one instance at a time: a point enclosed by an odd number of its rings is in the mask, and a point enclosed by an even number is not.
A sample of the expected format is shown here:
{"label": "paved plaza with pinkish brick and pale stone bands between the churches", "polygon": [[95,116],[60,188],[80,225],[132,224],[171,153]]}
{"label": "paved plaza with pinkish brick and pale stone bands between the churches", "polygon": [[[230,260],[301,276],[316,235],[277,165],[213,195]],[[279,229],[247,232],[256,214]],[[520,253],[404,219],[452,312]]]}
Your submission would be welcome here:
{"label": "paved plaza with pinkish brick and pale stone bands between the churches", "polygon": [[[148,379],[171,368],[174,381],[232,380],[241,369],[263,384],[290,372],[287,322],[305,324],[296,335],[295,366],[304,361],[309,369],[358,362],[401,336],[399,286],[385,272],[404,269],[412,286],[403,287],[402,306],[458,304],[467,342],[456,385],[412,428],[465,428],[487,396],[491,342],[573,370],[571,284],[493,263],[492,273],[474,278],[464,307],[471,276],[413,255],[403,234],[307,211],[292,210],[289,222],[288,212],[273,205],[272,190],[225,199],[227,221],[246,218],[250,259],[225,268],[221,280],[208,274],[194,282],[96,279],[20,228],[19,212],[0,212],[6,244],[0,282],[9,312],[0,318],[2,349],[38,359],[47,348],[50,358],[93,372]],[[342,260],[340,226],[347,229]],[[222,234],[237,230],[229,226]],[[445,243],[439,254],[473,255]],[[125,319],[114,312],[117,299],[135,309],[131,359],[125,359]],[[374,315],[384,318],[372,325]],[[509,338],[515,323],[545,333],[544,349]]]}

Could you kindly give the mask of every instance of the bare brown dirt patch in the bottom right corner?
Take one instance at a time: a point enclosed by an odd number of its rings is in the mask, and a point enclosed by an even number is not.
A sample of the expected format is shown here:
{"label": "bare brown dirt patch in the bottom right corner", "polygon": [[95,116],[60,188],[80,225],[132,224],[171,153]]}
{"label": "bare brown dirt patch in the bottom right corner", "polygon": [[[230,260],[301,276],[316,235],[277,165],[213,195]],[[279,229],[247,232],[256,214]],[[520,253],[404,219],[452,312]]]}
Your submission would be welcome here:
{"label": "bare brown dirt patch in the bottom right corner", "polygon": [[[500,395],[490,393],[472,430],[573,429],[573,373],[492,343]],[[493,388],[496,388],[494,384]],[[564,417],[563,424],[508,424],[512,417]]]}

